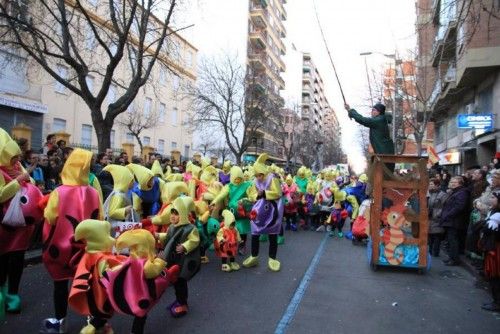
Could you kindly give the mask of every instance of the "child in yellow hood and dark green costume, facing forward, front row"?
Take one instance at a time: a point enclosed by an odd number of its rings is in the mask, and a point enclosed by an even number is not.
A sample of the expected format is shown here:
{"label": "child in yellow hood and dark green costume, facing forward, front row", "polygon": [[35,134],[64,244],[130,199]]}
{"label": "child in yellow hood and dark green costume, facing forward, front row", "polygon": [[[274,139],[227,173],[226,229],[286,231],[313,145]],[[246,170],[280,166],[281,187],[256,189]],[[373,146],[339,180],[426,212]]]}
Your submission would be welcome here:
{"label": "child in yellow hood and dark green costume, facing forward, front row", "polygon": [[170,207],[170,226],[167,233],[159,235],[160,241],[165,245],[162,259],[167,262],[169,268],[173,265],[180,266],[179,277],[174,283],[176,300],[169,306],[170,314],[174,318],[187,314],[187,282],[200,269],[200,236],[196,226],[189,221],[190,206],[182,197],[177,198]]}

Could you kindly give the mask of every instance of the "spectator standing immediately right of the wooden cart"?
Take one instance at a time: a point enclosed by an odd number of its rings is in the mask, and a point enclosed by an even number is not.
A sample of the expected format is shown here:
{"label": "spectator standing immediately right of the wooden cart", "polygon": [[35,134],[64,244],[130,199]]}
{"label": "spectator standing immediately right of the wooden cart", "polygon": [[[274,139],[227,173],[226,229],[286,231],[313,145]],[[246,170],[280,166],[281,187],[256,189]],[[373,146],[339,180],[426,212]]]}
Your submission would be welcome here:
{"label": "spectator standing immediately right of the wooden cart", "polygon": [[431,179],[429,182],[429,252],[438,257],[441,241],[444,239],[444,228],[439,225],[439,217],[447,194],[441,190],[440,181]]}

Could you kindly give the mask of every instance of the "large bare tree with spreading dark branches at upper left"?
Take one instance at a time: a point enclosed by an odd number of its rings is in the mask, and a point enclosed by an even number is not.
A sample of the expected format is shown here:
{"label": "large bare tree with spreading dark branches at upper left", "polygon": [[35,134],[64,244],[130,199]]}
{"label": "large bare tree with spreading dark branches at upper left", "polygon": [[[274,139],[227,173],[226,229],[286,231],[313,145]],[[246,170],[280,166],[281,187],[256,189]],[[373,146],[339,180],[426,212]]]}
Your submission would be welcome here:
{"label": "large bare tree with spreading dark branches at upper left", "polygon": [[[157,60],[167,63],[177,2],[2,0],[0,45],[39,65],[85,102],[104,151],[116,117],[146,84]],[[163,20],[153,14],[160,11]],[[90,78],[96,80],[91,84]],[[116,100],[106,105],[112,86]]]}

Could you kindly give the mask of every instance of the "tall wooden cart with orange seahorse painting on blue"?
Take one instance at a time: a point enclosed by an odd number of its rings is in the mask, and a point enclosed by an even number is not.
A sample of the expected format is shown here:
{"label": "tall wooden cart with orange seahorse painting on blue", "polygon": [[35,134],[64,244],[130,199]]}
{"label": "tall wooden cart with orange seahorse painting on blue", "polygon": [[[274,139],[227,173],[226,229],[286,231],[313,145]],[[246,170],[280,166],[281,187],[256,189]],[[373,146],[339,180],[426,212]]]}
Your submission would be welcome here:
{"label": "tall wooden cart with orange seahorse painting on blue", "polygon": [[[406,176],[395,175],[391,164],[396,163],[413,168]],[[372,180],[370,266],[373,270],[380,265],[410,267],[424,273],[428,268],[427,158],[375,155]]]}

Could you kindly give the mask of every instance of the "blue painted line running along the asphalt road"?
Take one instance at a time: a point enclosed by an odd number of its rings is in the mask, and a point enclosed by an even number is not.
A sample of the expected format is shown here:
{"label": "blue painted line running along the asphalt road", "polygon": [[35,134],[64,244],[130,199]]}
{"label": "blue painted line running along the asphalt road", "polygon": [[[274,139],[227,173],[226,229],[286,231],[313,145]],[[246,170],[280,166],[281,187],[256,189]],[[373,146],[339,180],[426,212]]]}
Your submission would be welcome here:
{"label": "blue painted line running along the asphalt road", "polygon": [[323,237],[323,240],[321,241],[321,244],[319,245],[318,250],[316,251],[316,254],[314,254],[314,257],[311,261],[311,264],[309,265],[309,268],[307,268],[307,271],[304,274],[304,277],[302,277],[302,281],[300,281],[300,284],[297,287],[297,290],[295,290],[295,294],[293,295],[292,300],[290,301],[290,304],[288,304],[288,307],[286,308],[285,314],[283,314],[283,317],[281,318],[280,322],[278,323],[278,326],[276,327],[274,334],[285,333],[288,325],[290,325],[290,323],[292,322],[293,317],[295,316],[295,312],[297,312],[297,309],[299,308],[299,304],[302,301],[302,297],[304,297],[304,294],[307,290],[307,287],[309,286],[309,282],[311,281],[312,276],[314,275],[314,272],[316,271],[316,267],[319,264],[319,260],[321,258],[321,255],[323,255],[323,251],[325,249],[327,239],[328,239],[328,233],[325,233],[325,236]]}

